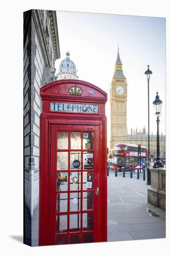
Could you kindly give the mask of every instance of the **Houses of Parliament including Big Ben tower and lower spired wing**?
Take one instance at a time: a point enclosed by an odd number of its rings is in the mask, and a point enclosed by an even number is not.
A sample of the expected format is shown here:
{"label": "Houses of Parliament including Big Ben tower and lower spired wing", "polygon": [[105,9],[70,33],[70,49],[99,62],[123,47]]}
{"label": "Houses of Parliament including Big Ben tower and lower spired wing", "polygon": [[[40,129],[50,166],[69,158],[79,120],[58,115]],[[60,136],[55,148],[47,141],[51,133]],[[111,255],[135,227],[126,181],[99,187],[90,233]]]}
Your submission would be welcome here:
{"label": "Houses of Parliament including Big Ben tower and lower spired wing", "polygon": [[[127,81],[123,73],[122,62],[118,56],[115,64],[115,70],[110,87],[110,105],[111,105],[111,141],[110,148],[114,148],[117,143],[141,144],[148,148],[148,134],[145,127],[143,130],[132,130],[127,133]],[[166,136],[159,136],[160,157],[166,157]],[[150,135],[150,157],[157,157],[157,135]]]}

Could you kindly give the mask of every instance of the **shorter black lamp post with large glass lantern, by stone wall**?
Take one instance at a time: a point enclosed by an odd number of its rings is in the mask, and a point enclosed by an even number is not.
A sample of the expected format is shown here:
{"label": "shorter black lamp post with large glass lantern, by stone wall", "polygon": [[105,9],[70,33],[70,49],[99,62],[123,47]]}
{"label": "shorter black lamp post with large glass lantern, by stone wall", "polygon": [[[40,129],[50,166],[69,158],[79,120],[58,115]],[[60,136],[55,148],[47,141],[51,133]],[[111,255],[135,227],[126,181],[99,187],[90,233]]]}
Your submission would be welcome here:
{"label": "shorter black lamp post with large glass lantern, by stone wall", "polygon": [[154,163],[153,168],[159,168],[159,167],[163,167],[163,164],[161,162],[161,158],[160,158],[160,150],[159,150],[159,116],[161,116],[161,106],[162,106],[162,101],[159,99],[159,95],[157,92],[155,101],[153,101],[153,105],[155,108],[155,114],[157,115],[157,160]]}

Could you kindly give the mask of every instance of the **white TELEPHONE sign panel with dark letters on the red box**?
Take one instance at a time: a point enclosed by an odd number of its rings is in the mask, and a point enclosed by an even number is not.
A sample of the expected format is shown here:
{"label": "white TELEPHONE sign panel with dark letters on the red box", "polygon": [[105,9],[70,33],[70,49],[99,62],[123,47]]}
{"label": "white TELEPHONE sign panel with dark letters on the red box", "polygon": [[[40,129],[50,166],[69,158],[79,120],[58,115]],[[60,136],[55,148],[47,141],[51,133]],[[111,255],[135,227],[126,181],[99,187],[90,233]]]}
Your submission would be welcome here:
{"label": "white TELEPHONE sign panel with dark letters on the red box", "polygon": [[50,110],[57,112],[98,113],[98,105],[50,102]]}

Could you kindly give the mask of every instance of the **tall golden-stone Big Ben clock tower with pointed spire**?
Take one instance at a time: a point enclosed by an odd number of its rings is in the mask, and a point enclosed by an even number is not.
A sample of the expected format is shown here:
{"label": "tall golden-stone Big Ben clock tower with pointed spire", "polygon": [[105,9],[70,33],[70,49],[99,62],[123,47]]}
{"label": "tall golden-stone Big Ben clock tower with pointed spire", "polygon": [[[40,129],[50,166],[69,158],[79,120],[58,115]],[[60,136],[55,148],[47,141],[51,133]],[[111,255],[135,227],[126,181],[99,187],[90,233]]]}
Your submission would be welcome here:
{"label": "tall golden-stone Big Ben clock tower with pointed spire", "polygon": [[127,140],[127,82],[122,70],[122,62],[118,56],[110,88],[111,103],[111,141],[110,147]]}

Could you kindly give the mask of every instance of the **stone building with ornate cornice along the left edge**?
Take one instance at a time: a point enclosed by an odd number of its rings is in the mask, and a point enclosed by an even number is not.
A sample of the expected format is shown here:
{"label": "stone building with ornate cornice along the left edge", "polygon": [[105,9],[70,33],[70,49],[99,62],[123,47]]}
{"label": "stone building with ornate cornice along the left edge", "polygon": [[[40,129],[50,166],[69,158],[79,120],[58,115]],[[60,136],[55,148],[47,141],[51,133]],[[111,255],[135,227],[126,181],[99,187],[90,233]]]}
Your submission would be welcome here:
{"label": "stone building with ornate cornice along the left edge", "polygon": [[[33,218],[39,205],[39,115],[42,111],[39,88],[54,80],[55,61],[60,58],[55,11],[24,12],[23,57],[25,218]],[[37,245],[38,230],[33,234],[31,223],[28,227],[29,220],[26,221],[25,243]]]}

